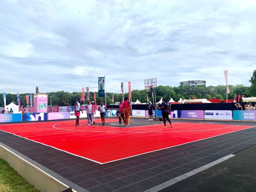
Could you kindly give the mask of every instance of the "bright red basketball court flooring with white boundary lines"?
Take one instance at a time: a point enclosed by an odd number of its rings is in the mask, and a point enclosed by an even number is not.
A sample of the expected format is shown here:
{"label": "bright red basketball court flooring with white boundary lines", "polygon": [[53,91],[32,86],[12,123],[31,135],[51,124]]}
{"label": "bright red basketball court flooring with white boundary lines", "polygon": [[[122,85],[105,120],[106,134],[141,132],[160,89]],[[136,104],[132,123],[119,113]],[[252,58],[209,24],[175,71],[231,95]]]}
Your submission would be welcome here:
{"label": "bright red basketball court flooring with white boundary lines", "polygon": [[138,126],[133,127],[118,126],[118,119],[106,119],[105,126],[101,119],[91,125],[80,120],[82,127],[70,120],[1,124],[0,130],[102,164],[252,127],[179,122],[163,128],[161,121],[150,125],[135,121]]}

